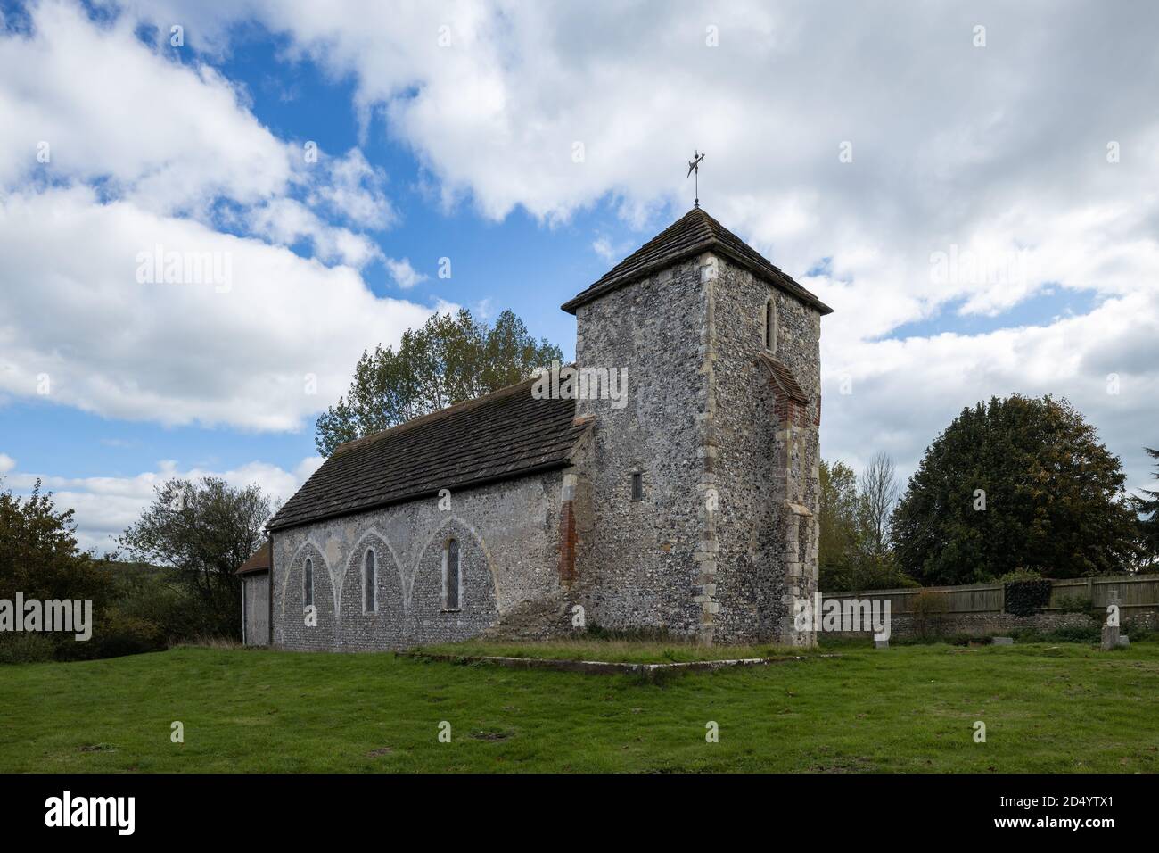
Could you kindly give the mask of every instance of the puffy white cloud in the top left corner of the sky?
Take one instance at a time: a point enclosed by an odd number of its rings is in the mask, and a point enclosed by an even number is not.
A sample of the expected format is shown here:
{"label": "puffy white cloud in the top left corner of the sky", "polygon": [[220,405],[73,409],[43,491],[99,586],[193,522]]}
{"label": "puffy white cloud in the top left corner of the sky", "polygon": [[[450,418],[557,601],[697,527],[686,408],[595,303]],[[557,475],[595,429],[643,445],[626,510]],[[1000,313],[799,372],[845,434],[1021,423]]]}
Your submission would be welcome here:
{"label": "puffy white cloud in the top left corner of the sky", "polygon": [[54,0],[30,16],[31,35],[0,36],[0,187],[104,180],[139,207],[204,214],[289,186],[289,146],[212,67],[162,58],[126,16],[99,26]]}

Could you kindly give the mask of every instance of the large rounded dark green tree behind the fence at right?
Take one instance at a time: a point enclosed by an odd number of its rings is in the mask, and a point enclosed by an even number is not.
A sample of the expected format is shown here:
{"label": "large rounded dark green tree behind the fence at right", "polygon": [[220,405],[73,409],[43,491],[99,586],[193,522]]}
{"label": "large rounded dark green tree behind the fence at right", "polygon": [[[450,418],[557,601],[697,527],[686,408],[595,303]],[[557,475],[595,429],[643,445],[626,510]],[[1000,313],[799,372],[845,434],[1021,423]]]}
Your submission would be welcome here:
{"label": "large rounded dark green tree behind the fence at right", "polygon": [[1124,479],[1066,400],[996,397],[926,449],[894,513],[894,550],[926,585],[1122,571],[1137,550]]}

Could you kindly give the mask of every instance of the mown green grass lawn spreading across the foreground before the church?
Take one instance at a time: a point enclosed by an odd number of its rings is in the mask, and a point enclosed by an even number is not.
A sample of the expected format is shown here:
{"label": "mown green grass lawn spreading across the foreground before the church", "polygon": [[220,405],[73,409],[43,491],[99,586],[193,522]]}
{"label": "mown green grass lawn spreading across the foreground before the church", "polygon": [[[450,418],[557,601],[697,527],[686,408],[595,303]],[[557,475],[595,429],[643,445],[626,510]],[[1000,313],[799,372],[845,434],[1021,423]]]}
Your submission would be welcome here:
{"label": "mown green grass lawn spreading across the foreground before the church", "polygon": [[3,666],[0,772],[1159,769],[1157,643],[839,651],[661,684],[240,649]]}

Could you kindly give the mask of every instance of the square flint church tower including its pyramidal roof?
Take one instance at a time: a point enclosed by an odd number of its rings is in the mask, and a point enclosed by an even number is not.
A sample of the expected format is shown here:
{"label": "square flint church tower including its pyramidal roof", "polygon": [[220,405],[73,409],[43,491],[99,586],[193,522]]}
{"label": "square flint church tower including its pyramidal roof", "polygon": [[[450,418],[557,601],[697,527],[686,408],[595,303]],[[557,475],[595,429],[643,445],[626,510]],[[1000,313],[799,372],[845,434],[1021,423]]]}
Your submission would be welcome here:
{"label": "square flint church tower including its pyramidal roof", "polygon": [[628,379],[622,409],[576,403],[593,422],[576,479],[589,619],[811,644],[793,602],[817,588],[830,309],[699,208],[563,309],[577,366]]}

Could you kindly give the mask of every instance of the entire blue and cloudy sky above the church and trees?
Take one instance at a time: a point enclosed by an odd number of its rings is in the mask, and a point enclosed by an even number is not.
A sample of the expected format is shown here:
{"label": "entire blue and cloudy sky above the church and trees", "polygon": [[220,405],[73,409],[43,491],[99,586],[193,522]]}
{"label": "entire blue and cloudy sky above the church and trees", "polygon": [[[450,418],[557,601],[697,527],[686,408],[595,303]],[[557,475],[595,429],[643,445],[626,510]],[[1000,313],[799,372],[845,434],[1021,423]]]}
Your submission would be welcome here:
{"label": "entire blue and cloudy sky above the church and trees", "polygon": [[[694,149],[702,205],[836,309],[828,458],[909,474],[963,406],[1051,392],[1149,483],[1153,5],[0,10],[0,475],[85,545],[174,474],[289,497],[363,348],[432,311],[571,355],[560,303],[691,207]],[[172,251],[217,266],[151,279]]]}

